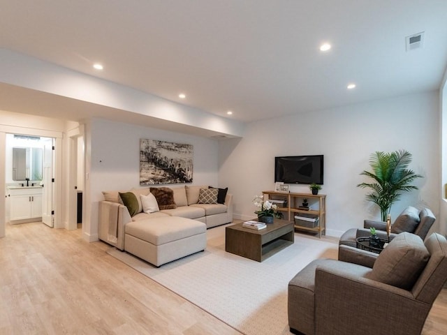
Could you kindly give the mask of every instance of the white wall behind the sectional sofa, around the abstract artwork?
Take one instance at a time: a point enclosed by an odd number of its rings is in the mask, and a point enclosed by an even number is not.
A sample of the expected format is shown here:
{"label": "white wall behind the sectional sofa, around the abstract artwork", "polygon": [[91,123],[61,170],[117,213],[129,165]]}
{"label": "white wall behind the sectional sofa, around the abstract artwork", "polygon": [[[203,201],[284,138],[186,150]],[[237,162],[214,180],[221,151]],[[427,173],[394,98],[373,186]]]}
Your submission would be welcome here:
{"label": "white wall behind the sectional sofa, around the abstract artwork", "polygon": [[98,202],[103,200],[101,191],[126,191],[140,187],[141,138],[192,144],[193,184],[217,185],[217,140],[93,119],[86,125],[85,173],[88,179],[84,194],[87,208],[82,222],[85,239],[98,239]]}

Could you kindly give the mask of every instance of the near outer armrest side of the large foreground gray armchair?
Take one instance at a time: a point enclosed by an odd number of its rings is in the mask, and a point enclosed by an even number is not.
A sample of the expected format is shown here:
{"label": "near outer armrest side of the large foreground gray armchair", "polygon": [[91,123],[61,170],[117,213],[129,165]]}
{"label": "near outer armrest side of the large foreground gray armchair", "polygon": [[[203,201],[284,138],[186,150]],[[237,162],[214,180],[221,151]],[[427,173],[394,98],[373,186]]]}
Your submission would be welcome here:
{"label": "near outer armrest side of the large foreground gray armchair", "polygon": [[315,334],[420,334],[430,305],[409,291],[358,276],[355,267],[316,268]]}

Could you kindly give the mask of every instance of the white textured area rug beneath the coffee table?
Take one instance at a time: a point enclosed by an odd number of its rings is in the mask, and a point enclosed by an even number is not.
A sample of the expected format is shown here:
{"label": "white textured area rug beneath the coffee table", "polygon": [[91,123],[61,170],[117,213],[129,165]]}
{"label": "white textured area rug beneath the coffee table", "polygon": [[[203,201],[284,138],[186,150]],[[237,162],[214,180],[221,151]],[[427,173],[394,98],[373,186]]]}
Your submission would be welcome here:
{"label": "white textured area rug beneath the coffee table", "polygon": [[225,226],[207,230],[203,253],[159,269],[133,255],[108,253],[247,335],[291,334],[287,284],[316,258],[337,258],[338,244],[295,233],[295,243],[264,262],[225,251]]}

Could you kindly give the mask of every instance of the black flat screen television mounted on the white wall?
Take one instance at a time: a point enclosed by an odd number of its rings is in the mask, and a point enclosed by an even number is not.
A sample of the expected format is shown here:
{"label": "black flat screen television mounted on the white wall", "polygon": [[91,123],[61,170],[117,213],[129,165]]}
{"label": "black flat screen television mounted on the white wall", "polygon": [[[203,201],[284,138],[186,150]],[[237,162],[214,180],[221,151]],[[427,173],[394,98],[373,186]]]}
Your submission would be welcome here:
{"label": "black flat screen television mounted on the white wall", "polygon": [[323,155],[274,158],[274,181],[285,184],[323,184]]}

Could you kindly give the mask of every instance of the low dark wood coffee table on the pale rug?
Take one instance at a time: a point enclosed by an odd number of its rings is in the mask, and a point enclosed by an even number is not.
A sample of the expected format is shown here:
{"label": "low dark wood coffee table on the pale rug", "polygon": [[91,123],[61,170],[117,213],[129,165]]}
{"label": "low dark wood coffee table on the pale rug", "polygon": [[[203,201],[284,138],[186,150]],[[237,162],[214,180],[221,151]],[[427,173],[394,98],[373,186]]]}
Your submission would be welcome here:
{"label": "low dark wood coffee table on the pale rug", "polygon": [[293,221],[277,218],[262,230],[244,228],[242,223],[236,223],[225,228],[225,251],[262,262],[293,244],[294,232]]}

